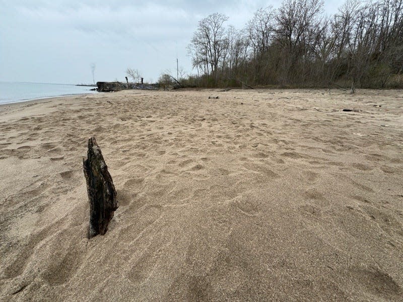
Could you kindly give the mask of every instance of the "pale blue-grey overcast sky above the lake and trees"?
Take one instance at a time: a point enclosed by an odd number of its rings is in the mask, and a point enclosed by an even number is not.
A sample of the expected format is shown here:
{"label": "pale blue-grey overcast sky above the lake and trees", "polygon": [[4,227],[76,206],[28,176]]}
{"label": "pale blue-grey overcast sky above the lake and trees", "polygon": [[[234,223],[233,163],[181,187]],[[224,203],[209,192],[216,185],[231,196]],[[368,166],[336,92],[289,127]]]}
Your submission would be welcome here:
{"label": "pale blue-grey overcast sky above the lake and trees", "polygon": [[[328,15],[340,1],[325,1]],[[213,13],[241,29],[253,13],[281,1],[0,0],[0,81],[82,84],[124,82],[127,68],[145,82],[179,67],[194,73],[186,46]]]}

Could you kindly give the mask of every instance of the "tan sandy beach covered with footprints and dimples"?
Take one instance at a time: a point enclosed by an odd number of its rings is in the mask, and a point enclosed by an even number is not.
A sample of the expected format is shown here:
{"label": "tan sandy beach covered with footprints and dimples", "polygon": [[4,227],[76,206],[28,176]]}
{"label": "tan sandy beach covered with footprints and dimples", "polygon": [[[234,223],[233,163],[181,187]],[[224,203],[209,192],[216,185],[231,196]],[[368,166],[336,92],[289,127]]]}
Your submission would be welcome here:
{"label": "tan sandy beach covered with footprints and dimples", "polygon": [[[0,299],[402,300],[402,106],[402,90],[1,106]],[[91,135],[119,208],[88,240]]]}

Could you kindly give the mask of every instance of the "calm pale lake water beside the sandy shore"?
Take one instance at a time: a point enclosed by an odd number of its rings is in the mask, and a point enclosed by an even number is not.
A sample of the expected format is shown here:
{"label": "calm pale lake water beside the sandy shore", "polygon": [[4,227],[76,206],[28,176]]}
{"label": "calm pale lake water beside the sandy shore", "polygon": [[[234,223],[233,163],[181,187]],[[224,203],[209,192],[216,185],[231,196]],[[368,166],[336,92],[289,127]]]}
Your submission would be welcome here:
{"label": "calm pale lake water beside the sandy shore", "polygon": [[97,93],[95,87],[64,84],[0,82],[0,104],[17,103],[58,96]]}

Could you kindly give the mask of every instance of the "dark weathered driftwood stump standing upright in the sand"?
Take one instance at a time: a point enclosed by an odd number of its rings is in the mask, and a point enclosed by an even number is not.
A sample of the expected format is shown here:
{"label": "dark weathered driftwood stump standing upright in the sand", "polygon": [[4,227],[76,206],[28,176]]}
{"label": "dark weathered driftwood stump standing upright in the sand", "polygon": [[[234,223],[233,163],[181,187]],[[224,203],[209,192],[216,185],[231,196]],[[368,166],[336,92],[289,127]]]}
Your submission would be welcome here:
{"label": "dark weathered driftwood stump standing upright in the sand", "polygon": [[106,233],[113,212],[119,207],[112,177],[94,136],[88,139],[87,159],[83,159],[83,169],[90,202],[88,238],[91,238]]}

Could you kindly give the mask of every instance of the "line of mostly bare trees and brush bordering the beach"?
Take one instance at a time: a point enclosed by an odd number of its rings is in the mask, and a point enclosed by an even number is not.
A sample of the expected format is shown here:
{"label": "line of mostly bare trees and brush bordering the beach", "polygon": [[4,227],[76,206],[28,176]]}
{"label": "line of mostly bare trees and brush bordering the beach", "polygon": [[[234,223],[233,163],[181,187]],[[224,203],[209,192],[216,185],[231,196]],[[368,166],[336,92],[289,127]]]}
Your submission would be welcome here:
{"label": "line of mostly bare trees and brush bordering the beach", "polygon": [[198,87],[403,87],[403,0],[348,0],[324,14],[321,0],[284,0],[244,28],[212,14],[188,45]]}

